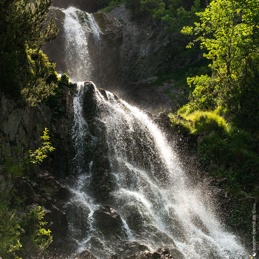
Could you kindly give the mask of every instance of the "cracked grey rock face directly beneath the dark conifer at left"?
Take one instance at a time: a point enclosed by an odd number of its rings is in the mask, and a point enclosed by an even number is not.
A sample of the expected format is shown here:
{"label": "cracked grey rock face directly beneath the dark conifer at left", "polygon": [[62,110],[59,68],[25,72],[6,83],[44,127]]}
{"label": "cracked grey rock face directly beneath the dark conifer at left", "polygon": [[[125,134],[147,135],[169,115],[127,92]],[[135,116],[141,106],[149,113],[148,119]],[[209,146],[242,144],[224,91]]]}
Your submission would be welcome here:
{"label": "cracked grey rock face directly beneath the dark conifer at left", "polygon": [[50,110],[44,104],[19,104],[0,92],[0,146],[3,146],[13,159],[16,158],[16,152],[11,147],[25,150],[39,148],[42,142],[39,136],[43,134],[45,127],[51,128],[50,121]]}

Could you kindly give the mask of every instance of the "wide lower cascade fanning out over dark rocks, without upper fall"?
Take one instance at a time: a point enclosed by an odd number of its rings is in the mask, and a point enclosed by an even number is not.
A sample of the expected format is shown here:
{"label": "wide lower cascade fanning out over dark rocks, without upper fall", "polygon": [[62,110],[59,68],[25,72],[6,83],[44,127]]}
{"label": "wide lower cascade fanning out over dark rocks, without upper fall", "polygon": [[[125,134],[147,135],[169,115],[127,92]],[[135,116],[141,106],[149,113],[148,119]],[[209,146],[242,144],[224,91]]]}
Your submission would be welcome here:
{"label": "wide lower cascade fanning out over dark rocks, without upper fall", "polygon": [[[100,259],[112,254],[123,257],[121,251],[126,244],[140,242],[147,250],[167,247],[176,259],[247,258],[238,237],[225,231],[216,220],[204,193],[188,185],[188,177],[163,130],[146,113],[90,82],[76,88],[87,95],[85,104],[89,96],[95,102],[94,129],[89,126],[84,137],[89,155],[84,156],[85,166],[71,186],[74,196],[69,203],[73,210],[84,210],[80,216],[83,221],[78,218],[79,211],[70,220],[78,252],[89,250]],[[77,100],[76,97],[74,102]],[[96,126],[103,129],[105,136],[94,135],[99,134]],[[109,165],[94,155],[93,151],[100,147],[106,150],[101,159]],[[99,184],[100,181],[104,182]],[[108,184],[108,192],[103,187],[106,181],[113,183]],[[98,197],[103,192],[105,198],[101,201]],[[103,207],[107,203],[111,209]],[[98,217],[103,213],[120,218],[114,230],[108,230],[109,225],[102,228]],[[78,221],[85,222],[81,223],[85,229],[80,234]]]}

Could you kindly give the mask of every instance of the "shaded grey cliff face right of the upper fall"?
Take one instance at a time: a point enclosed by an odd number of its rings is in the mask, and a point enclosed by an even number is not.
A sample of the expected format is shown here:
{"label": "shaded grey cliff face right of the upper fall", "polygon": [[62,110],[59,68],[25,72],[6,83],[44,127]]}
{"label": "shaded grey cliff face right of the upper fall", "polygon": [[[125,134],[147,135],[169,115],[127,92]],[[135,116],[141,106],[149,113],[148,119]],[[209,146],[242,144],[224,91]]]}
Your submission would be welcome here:
{"label": "shaded grey cliff face right of the upper fall", "polygon": [[186,37],[165,31],[165,22],[156,24],[151,17],[131,21],[125,4],[115,7],[109,14],[123,23],[119,77],[126,83],[190,64],[195,58],[179,50],[186,46]]}

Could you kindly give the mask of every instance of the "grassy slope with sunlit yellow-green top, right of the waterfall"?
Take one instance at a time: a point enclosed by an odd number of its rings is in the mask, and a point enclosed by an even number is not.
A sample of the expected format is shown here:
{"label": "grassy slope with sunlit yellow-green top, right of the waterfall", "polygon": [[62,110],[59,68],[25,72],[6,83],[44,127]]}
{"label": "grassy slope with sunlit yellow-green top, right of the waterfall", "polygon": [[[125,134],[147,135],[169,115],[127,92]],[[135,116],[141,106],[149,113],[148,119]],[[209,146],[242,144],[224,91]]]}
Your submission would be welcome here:
{"label": "grassy slope with sunlit yellow-green top, right of the waterfall", "polygon": [[172,124],[181,125],[190,134],[199,134],[198,150],[201,164],[216,177],[227,177],[238,184],[239,191],[251,188],[259,178],[259,138],[228,122],[221,115],[222,107],[214,111],[191,112],[188,104],[171,114]]}

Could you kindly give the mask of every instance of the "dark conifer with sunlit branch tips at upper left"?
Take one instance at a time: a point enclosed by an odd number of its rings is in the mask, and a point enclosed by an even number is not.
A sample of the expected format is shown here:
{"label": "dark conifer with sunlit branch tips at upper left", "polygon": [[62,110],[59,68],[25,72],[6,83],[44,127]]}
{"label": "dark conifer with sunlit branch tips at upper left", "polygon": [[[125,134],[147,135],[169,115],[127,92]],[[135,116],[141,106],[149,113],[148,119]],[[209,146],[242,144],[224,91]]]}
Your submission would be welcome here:
{"label": "dark conifer with sunlit branch tips at upper left", "polygon": [[[0,90],[30,102],[51,93],[57,81],[55,65],[40,48],[57,36],[51,0],[0,0]],[[45,25],[43,25],[45,24]]]}

